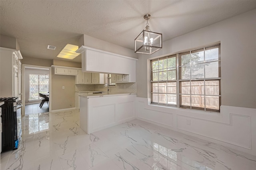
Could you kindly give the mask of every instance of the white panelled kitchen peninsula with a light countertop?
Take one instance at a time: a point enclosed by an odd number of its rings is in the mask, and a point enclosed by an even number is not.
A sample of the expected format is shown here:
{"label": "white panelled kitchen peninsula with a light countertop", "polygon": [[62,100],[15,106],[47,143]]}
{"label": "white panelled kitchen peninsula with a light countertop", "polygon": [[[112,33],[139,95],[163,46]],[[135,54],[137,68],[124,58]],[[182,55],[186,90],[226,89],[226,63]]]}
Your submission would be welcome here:
{"label": "white panelled kitchen peninsula with a light countertop", "polygon": [[80,128],[87,134],[135,118],[133,93],[83,94],[80,97]]}

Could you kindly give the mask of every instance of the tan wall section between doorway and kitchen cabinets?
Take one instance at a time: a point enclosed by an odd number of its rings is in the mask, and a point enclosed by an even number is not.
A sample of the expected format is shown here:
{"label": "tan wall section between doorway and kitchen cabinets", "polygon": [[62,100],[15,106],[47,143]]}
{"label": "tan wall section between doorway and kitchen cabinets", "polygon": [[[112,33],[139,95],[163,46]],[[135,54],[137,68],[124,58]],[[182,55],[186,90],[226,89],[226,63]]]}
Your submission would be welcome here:
{"label": "tan wall section between doorway and kitchen cabinets", "polygon": [[[65,89],[62,89],[62,86]],[[55,75],[52,69],[51,95],[52,110],[75,107],[75,76]]]}

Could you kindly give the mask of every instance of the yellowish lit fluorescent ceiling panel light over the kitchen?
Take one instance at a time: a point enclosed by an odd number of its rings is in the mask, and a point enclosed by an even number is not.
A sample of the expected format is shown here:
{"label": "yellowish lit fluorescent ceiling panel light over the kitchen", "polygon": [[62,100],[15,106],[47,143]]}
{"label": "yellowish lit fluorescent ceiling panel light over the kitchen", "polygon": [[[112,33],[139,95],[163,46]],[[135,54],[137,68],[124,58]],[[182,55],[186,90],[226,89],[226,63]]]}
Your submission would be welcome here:
{"label": "yellowish lit fluorescent ceiling panel light over the kitchen", "polygon": [[57,57],[72,60],[80,55],[80,53],[76,53],[76,50],[78,50],[77,45],[67,44]]}

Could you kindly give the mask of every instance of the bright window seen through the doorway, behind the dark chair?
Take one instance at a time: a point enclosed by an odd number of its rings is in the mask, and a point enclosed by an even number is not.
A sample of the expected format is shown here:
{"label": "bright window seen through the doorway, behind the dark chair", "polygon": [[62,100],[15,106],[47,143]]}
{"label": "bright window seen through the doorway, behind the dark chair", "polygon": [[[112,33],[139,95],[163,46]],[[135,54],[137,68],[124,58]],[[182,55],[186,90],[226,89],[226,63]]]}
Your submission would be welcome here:
{"label": "bright window seen through the doorway, behind the dark chair", "polygon": [[46,75],[29,74],[29,100],[39,100],[39,92],[49,92],[49,78]]}

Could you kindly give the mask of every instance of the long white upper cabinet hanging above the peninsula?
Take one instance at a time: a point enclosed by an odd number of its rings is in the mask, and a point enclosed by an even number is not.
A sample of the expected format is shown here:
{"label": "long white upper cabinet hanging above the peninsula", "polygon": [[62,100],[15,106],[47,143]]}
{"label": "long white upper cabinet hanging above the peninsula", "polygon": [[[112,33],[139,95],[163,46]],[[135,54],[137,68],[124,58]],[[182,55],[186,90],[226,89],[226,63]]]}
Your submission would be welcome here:
{"label": "long white upper cabinet hanging above the peninsula", "polygon": [[86,46],[80,47],[76,53],[82,54],[82,71],[84,72],[126,74],[129,75],[127,82],[136,82],[136,61],[138,59]]}

